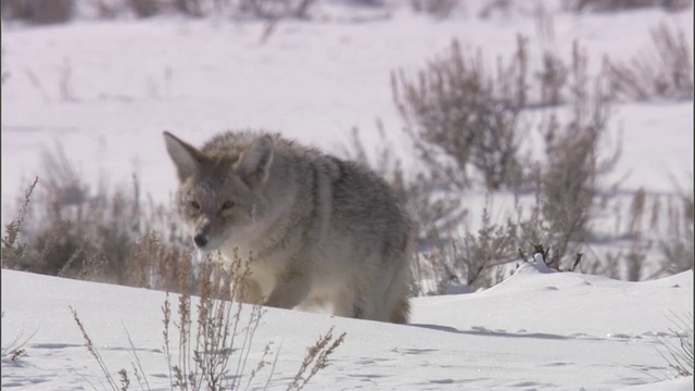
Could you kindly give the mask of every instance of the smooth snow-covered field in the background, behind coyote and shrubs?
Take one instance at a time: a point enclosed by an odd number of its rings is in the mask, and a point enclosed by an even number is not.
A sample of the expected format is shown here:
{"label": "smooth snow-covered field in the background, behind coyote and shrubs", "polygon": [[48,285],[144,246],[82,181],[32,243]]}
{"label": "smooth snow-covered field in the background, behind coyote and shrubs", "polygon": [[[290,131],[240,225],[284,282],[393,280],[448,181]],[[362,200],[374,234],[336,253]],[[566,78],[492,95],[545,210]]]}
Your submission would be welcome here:
{"label": "smooth snow-covered field in the background, behind coyote and shrubs", "polygon": [[[394,7],[391,17],[350,22],[331,14],[353,8],[318,8],[311,22],[282,21],[265,42],[261,22],[162,17],[81,22],[50,27],[3,26],[3,205],[13,203],[40,174],[42,149],[60,142],[97,180],[127,180],[135,171],[143,191],[168,201],[175,185],[163,130],[201,143],[230,128],[264,128],[340,152],[354,127],[367,146],[379,141],[383,123],[394,153],[414,164],[392,100],[390,74],[414,73],[447,50],[456,38],[480,48],[494,68],[507,60],[517,34],[529,38],[529,63],[543,50],[566,61],[574,40],[586,48],[596,72],[604,54],[629,61],[652,45],[649,29],[666,22],[693,30],[692,12],[647,9],[577,15],[546,1],[555,38],[539,38],[529,10],[508,16],[466,14],[435,20]],[[480,4],[478,4],[480,7]],[[513,10],[517,8],[513,7]],[[359,10],[359,9],[357,9]],[[323,11],[323,12],[321,12]],[[329,11],[332,11],[330,13]],[[691,10],[692,11],[692,10]],[[378,13],[380,14],[380,13]],[[687,37],[692,43],[692,35]],[[693,104],[690,101],[630,103],[615,108],[611,129],[623,131],[622,159],[612,179],[623,188],[673,190],[692,182]],[[611,135],[611,140],[616,140]],[[3,209],[3,222],[7,222]]]}

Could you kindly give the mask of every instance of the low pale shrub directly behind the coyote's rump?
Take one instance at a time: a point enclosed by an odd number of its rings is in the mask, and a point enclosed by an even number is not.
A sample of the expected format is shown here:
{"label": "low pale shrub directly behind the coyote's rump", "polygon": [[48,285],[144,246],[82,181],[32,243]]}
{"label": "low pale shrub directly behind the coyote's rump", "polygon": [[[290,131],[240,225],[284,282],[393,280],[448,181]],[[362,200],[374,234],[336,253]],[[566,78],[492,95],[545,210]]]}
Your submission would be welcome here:
{"label": "low pale shrub directly behind the coyote's rump", "polygon": [[[503,279],[504,265],[518,260],[517,250],[529,242],[522,236],[529,227],[538,227],[538,213],[528,218],[508,219],[494,224],[490,218],[490,199],[486,200],[482,227],[475,234],[458,234],[464,216],[468,213],[460,204],[460,197],[451,188],[426,174],[412,180],[401,168],[390,143],[379,124],[381,142],[374,151],[379,156],[370,159],[357,129],[353,130],[352,148],[344,154],[359,162],[371,162],[376,169],[395,190],[418,227],[418,254],[414,260],[414,294],[444,294],[452,283],[468,289],[488,288]],[[518,200],[517,200],[517,209]]]}

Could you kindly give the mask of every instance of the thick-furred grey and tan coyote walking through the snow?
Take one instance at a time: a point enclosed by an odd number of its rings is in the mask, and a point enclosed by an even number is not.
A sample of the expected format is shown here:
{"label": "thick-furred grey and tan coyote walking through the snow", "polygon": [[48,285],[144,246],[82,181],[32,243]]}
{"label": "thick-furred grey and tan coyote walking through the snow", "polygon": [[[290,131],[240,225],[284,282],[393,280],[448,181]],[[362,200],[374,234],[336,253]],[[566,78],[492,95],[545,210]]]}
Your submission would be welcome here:
{"label": "thick-furred grey and tan coyote walking through the snow", "polygon": [[407,323],[413,225],[377,174],[277,134],[164,139],[195,247],[251,260],[235,299]]}

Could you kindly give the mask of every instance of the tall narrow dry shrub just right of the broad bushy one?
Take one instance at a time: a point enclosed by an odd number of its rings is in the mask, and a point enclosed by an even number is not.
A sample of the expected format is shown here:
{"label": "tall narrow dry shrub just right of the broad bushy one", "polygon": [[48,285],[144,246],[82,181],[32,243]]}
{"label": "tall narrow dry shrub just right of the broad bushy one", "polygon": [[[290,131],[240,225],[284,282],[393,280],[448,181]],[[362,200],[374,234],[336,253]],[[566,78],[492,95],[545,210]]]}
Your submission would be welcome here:
{"label": "tall narrow dry shrub just right of the broad bushy one", "polygon": [[[560,123],[551,113],[540,128],[545,140],[545,162],[538,172],[540,219],[554,249],[546,262],[555,268],[568,251],[578,253],[579,245],[591,239],[590,222],[599,207],[599,178],[615,168],[621,153],[620,140],[607,148],[609,100],[601,77],[591,80],[587,61],[576,42],[570,68],[571,115]],[[601,195],[608,198],[611,192]]]}

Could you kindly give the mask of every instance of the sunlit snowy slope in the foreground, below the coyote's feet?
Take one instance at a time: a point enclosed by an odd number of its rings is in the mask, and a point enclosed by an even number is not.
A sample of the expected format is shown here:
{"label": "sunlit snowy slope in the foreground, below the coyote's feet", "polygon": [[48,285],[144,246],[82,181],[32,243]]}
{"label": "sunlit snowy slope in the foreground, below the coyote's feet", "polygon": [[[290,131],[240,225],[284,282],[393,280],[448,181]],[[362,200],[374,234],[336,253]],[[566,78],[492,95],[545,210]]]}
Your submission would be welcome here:
{"label": "sunlit snowy slope in the foreground, below the coyote's feet", "polygon": [[[17,337],[28,341],[18,361],[3,357],[2,388],[98,383],[101,373],[83,346],[71,305],[114,377],[131,369],[127,330],[150,387],[167,389],[164,299],[163,292],[3,269],[3,350]],[[281,346],[270,389],[285,389],[305,348],[334,326],[336,333],[346,332],[345,342],[308,389],[616,390],[674,377],[655,337],[672,340],[669,317],[692,308],[692,272],[624,282],[527,264],[488,291],[415,299],[408,326],[268,308],[249,362],[253,367],[268,342],[274,352]],[[690,390],[693,378],[652,386]]]}

